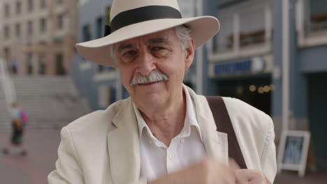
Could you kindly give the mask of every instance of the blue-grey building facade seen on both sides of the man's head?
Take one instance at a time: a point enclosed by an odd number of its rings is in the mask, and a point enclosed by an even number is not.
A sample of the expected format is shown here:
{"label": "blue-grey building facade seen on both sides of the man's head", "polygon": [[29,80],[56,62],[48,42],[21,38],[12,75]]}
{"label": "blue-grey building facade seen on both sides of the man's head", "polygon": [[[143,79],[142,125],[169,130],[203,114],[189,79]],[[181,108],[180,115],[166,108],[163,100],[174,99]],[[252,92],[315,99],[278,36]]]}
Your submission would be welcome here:
{"label": "blue-grey building facade seen on both sides of the man's head", "polygon": [[[80,2],[80,42],[103,35],[111,3]],[[287,128],[312,133],[314,159],[326,169],[327,1],[180,0],[180,4],[185,17],[212,15],[221,23],[217,36],[198,48],[185,84],[200,94],[240,98],[266,112],[273,117],[277,141],[287,111]],[[286,71],[285,62],[289,63]],[[71,73],[80,95],[89,99],[94,110],[128,97],[115,68],[78,56]],[[283,92],[285,77],[289,85]]]}

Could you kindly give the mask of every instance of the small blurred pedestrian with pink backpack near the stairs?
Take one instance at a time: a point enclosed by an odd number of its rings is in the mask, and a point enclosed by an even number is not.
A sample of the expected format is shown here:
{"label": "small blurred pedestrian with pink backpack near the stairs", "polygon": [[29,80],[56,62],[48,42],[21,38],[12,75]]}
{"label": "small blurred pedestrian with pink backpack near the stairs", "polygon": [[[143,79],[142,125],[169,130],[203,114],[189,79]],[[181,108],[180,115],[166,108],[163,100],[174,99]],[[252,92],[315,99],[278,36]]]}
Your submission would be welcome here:
{"label": "small blurred pedestrian with pink backpack near the stairs", "polygon": [[[20,155],[27,155],[27,149],[23,144],[23,134],[24,134],[24,127],[27,123],[27,114],[26,112],[22,111],[20,107],[18,107],[17,102],[12,102],[11,104],[11,139],[10,143],[3,148],[2,153],[7,155],[10,151],[10,148],[20,148]],[[22,118],[22,112],[24,113],[24,118]],[[24,123],[23,123],[24,121]]]}

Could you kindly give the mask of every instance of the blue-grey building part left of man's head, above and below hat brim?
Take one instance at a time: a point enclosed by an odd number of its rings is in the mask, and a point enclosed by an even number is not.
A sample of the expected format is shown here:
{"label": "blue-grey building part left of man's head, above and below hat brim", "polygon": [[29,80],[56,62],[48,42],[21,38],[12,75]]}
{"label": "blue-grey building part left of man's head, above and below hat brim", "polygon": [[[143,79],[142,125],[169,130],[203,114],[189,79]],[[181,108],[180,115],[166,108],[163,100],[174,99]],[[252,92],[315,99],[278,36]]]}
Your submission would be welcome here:
{"label": "blue-grey building part left of man's head, above and below hat brim", "polygon": [[[108,24],[112,1],[80,1],[78,42],[94,40],[103,36],[104,25]],[[110,103],[122,98],[117,70],[100,66],[78,55],[71,64],[71,75],[78,86],[80,95],[89,100],[93,109],[105,109]]]}

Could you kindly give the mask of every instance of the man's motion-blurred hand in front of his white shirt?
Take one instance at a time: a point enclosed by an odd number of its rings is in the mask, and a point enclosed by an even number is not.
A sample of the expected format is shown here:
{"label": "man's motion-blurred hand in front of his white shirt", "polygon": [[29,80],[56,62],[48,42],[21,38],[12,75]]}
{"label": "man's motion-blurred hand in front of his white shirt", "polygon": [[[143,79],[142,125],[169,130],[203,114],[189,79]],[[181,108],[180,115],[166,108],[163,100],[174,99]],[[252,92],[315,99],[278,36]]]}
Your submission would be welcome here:
{"label": "man's motion-blurred hand in front of his white shirt", "polygon": [[230,161],[229,166],[226,166],[225,164],[217,162],[211,158],[205,158],[198,164],[194,164],[182,169],[181,171],[177,171],[176,173],[158,178],[149,184],[234,184],[236,181],[236,169],[239,169],[238,164],[233,161]]}

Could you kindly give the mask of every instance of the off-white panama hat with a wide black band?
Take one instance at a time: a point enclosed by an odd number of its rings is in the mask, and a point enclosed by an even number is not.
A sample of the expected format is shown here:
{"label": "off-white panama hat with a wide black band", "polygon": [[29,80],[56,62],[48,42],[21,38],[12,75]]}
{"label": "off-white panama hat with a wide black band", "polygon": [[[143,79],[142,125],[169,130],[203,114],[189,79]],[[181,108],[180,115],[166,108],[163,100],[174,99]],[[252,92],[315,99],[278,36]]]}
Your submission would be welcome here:
{"label": "off-white panama hat with a wide black band", "polygon": [[117,67],[110,55],[112,44],[186,24],[199,47],[219,31],[219,21],[212,16],[182,18],[177,0],[115,0],[110,13],[108,36],[76,44],[89,61]]}

